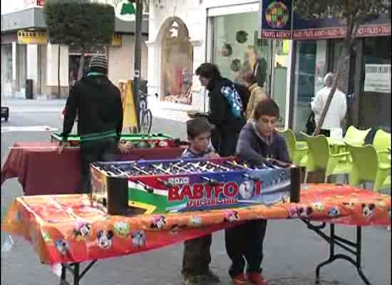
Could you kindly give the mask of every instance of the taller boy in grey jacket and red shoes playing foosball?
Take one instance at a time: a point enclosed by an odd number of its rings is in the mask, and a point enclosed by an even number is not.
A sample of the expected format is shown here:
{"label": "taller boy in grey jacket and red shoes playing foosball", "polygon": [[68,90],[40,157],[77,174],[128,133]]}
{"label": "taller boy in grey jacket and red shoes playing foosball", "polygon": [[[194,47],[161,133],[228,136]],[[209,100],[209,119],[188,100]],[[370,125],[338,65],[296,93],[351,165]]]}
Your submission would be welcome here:
{"label": "taller boy in grey jacket and red shoes playing foosball", "polygon": [[[290,162],[286,141],[275,132],[278,118],[279,107],[274,100],[259,102],[254,118],[239,133],[237,157],[250,165],[260,165],[266,158]],[[261,268],[266,229],[267,220],[259,219],[225,230],[226,250],[232,260],[229,275],[234,285],[268,284],[262,277]]]}

